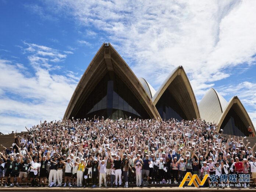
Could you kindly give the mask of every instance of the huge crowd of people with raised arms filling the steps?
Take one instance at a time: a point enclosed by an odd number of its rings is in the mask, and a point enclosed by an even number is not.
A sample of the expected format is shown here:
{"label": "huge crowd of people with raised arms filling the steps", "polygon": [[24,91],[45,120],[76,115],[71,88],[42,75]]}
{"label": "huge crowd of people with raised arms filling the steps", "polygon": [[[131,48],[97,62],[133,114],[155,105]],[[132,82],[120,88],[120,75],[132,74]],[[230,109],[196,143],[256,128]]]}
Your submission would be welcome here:
{"label": "huge crowd of people with raised arms filling the steps", "polygon": [[13,147],[1,145],[6,149],[0,152],[1,186],[21,186],[22,178],[39,187],[47,180],[59,187],[163,186],[179,184],[188,172],[200,179],[249,173],[256,186],[254,146],[221,136],[216,124],[201,120],[72,118],[27,130],[13,134]]}

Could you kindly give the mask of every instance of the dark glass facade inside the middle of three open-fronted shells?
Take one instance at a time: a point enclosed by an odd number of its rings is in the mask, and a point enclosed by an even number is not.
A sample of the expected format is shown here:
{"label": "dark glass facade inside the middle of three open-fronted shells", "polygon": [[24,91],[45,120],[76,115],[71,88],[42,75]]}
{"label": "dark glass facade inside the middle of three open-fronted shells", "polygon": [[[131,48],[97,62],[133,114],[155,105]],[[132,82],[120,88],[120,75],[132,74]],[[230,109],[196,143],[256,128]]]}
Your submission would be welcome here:
{"label": "dark glass facade inside the middle of three open-fronted shells", "polygon": [[163,120],[169,120],[170,118],[175,118],[179,121],[188,119],[181,109],[181,106],[179,106],[178,102],[174,99],[168,89],[166,89],[160,97],[156,104],[156,109]]}

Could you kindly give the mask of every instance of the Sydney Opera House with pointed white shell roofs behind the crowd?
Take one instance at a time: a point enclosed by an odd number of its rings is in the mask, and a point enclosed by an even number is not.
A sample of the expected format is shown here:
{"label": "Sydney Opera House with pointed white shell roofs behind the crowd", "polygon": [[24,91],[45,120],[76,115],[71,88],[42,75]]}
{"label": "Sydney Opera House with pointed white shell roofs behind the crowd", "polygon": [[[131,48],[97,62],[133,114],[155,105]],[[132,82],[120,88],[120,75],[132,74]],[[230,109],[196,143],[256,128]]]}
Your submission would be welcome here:
{"label": "Sydney Opera House with pointed white shell roofs behind the crowd", "polygon": [[224,134],[248,136],[253,127],[237,96],[227,102],[210,89],[200,104],[196,102],[182,66],[171,72],[156,91],[137,78],[110,43],[103,43],[79,81],[63,119],[104,117],[199,119],[218,124]]}

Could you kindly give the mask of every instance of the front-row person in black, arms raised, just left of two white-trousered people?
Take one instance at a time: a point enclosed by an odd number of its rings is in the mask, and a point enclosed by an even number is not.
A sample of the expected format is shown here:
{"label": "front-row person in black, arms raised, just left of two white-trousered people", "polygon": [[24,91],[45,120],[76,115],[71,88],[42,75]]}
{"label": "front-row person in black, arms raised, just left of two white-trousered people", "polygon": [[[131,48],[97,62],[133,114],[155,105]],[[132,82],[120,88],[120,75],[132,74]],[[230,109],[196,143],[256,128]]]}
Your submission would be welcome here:
{"label": "front-row person in black, arms raised, just left of two white-trousered people", "polygon": [[48,161],[50,160],[50,151],[47,152],[47,159],[46,159],[46,156],[43,156],[42,158],[41,154],[42,152],[39,151],[39,162],[41,163],[41,166],[40,166],[40,175],[39,175],[40,184],[38,186],[45,186],[46,177],[48,175],[47,164],[48,164]]}

